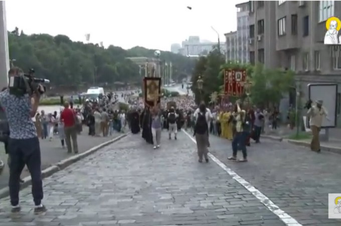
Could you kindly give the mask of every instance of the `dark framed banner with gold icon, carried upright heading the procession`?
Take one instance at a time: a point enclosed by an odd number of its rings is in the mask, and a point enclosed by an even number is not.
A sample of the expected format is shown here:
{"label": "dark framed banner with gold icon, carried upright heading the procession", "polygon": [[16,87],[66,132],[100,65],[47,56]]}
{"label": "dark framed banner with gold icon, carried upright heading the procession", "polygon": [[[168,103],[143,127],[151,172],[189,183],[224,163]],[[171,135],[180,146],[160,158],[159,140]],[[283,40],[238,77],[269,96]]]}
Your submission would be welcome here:
{"label": "dark framed banner with gold icon, carried upright heading the procession", "polygon": [[156,103],[160,103],[161,100],[161,78],[156,77],[144,77],[143,79],[143,96],[144,104],[153,107],[156,99]]}

